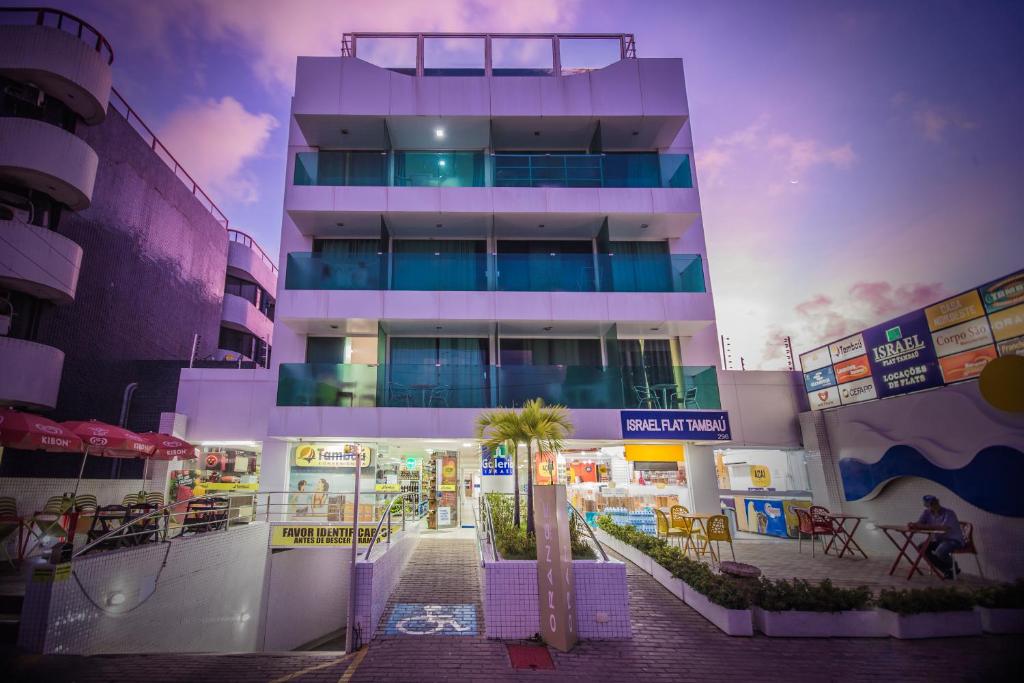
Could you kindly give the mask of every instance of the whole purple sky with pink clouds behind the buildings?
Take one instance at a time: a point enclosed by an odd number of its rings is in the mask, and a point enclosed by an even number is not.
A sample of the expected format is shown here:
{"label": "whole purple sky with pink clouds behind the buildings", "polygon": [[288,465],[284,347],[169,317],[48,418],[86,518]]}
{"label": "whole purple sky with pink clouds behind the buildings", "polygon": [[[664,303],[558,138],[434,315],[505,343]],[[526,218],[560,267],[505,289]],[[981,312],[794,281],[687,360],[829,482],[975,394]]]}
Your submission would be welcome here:
{"label": "whole purple sky with pink clouds behind the buildings", "polygon": [[271,254],[296,55],[345,31],[557,30],[685,59],[719,325],[748,368],[1024,265],[1024,3],[50,4],[106,35],[116,87]]}

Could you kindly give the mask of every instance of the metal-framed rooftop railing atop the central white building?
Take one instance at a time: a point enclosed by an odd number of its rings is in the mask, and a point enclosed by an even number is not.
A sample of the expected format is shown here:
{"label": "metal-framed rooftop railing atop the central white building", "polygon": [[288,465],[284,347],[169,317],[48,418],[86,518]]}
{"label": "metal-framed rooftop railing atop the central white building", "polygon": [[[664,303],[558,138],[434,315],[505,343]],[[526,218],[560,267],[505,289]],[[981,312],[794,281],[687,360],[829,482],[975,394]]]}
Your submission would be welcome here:
{"label": "metal-framed rooftop railing atop the central white building", "polygon": [[[579,73],[586,69],[562,68],[562,43],[570,41],[615,41],[618,44],[620,59],[635,59],[636,39],[631,33],[346,33],[341,39],[341,56],[358,57],[360,40],[416,41],[415,67],[395,68],[392,71],[410,76],[562,76]],[[481,45],[483,54],[478,55],[476,68],[436,68],[427,63],[427,41],[475,40]],[[503,68],[495,67],[495,41],[548,41],[551,45],[550,67]],[[393,50],[392,50],[393,52]]]}

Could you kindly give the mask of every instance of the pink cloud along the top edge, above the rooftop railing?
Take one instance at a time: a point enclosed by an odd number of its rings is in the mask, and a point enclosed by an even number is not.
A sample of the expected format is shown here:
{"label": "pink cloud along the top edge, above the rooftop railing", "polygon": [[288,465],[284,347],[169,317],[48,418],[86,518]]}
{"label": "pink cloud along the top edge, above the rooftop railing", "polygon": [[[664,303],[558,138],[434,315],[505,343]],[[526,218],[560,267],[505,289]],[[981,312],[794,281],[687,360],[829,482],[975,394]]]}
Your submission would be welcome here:
{"label": "pink cloud along the top edge, above the rooftop railing", "polygon": [[[259,81],[276,90],[291,89],[297,56],[339,54],[344,33],[544,32],[569,26],[579,5],[580,0],[125,0],[119,10],[130,18],[116,20],[137,27],[147,49],[165,60],[188,56],[186,46],[203,40],[221,44],[241,53]],[[389,41],[380,49],[409,48]],[[378,50],[367,43],[360,56],[373,56],[371,51]]]}

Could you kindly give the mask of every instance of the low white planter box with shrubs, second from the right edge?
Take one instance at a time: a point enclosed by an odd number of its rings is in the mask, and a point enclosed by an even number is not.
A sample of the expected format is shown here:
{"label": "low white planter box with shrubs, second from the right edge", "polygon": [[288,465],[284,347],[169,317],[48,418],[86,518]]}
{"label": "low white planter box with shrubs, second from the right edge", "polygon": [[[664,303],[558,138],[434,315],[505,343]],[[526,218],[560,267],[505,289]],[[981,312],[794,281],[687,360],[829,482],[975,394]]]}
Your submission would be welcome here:
{"label": "low white planter box with shrubs, second from the right edge", "polygon": [[981,633],[974,596],[954,588],[882,591],[879,611],[894,638],[946,638]]}

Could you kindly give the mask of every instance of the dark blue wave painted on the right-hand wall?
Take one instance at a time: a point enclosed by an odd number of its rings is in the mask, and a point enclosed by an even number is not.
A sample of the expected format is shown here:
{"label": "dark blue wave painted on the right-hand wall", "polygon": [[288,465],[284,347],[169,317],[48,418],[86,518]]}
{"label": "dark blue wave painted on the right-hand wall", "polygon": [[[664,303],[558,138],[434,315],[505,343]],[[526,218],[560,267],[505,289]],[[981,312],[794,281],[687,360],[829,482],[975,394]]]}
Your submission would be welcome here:
{"label": "dark blue wave painted on the right-hand wall", "polygon": [[1024,453],[1007,445],[982,449],[958,469],[939,467],[909,445],[894,445],[876,463],[844,458],[839,463],[846,500],[878,496],[890,481],[904,476],[942,484],[971,505],[1008,517],[1024,517]]}

